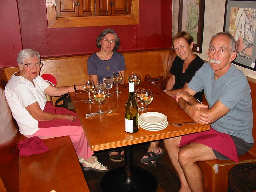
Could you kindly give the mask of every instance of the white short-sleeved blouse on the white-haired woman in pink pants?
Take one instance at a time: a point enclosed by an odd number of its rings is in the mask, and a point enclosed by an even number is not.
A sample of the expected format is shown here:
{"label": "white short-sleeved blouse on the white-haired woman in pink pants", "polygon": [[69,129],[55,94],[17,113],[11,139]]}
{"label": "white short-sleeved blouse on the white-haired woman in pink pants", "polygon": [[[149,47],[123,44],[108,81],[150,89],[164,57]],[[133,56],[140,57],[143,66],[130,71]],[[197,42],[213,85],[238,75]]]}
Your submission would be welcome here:
{"label": "white short-sleeved blouse on the white-haired woman in pink pants", "polygon": [[44,110],[47,102],[44,89],[50,83],[46,82],[41,76],[37,76],[33,80],[34,87],[31,81],[22,76],[15,76],[14,74],[5,87],[5,97],[13,117],[17,121],[20,133],[32,135],[39,130],[38,121],[28,113],[25,107],[37,101],[40,108]]}

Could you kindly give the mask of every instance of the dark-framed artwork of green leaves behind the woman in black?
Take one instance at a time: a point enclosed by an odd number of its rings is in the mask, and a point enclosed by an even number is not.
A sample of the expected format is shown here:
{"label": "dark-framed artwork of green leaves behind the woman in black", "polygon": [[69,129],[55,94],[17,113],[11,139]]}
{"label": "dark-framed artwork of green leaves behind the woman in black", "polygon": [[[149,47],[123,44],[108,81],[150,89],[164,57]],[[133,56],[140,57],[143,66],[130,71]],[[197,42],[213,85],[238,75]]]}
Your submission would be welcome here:
{"label": "dark-framed artwork of green leaves behind the woman in black", "polygon": [[194,38],[193,51],[202,53],[205,0],[179,0],[178,32]]}

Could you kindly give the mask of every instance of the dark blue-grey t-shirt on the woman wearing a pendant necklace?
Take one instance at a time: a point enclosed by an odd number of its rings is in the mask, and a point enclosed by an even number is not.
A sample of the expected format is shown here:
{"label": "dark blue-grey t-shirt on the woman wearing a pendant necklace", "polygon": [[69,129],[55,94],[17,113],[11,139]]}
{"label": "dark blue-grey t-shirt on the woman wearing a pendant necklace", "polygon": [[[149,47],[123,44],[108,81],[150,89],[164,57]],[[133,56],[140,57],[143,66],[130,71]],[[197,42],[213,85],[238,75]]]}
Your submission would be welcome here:
{"label": "dark blue-grey t-shirt on the woman wearing a pendant necklace", "polygon": [[[109,70],[107,70],[107,66]],[[87,60],[87,74],[97,75],[99,82],[103,82],[104,77],[112,77],[114,71],[125,69],[124,56],[115,51],[109,60],[100,59],[96,53],[93,53]]]}

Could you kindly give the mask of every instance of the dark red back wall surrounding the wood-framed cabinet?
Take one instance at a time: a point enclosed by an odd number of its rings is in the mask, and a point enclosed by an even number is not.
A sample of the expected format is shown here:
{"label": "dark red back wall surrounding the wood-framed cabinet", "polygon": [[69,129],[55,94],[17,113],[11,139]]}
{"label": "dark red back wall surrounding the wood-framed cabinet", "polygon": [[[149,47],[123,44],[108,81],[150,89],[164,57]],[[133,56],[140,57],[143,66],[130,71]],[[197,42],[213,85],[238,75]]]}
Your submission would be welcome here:
{"label": "dark red back wall surrounding the wood-framed cabinet", "polygon": [[[15,0],[9,1],[12,4],[16,2]],[[46,3],[43,0],[17,0],[17,4],[18,10],[13,9],[11,12],[6,12],[5,17],[17,15],[19,12],[23,49],[36,49],[42,57],[96,52],[98,50],[95,44],[96,38],[106,28],[113,28],[121,39],[121,46],[118,51],[171,47],[172,0],[140,0],[138,25],[75,28],[48,28]],[[8,22],[3,24],[7,26]],[[19,26],[15,27],[16,30],[19,29]],[[5,33],[9,37],[14,37],[11,29]],[[19,46],[16,49],[20,51],[22,49],[20,39],[17,40],[17,44]],[[6,45],[9,48],[16,47],[16,41]],[[13,57],[16,60],[17,54],[15,52],[10,56],[12,60]],[[16,66],[16,62],[8,62],[5,66]]]}

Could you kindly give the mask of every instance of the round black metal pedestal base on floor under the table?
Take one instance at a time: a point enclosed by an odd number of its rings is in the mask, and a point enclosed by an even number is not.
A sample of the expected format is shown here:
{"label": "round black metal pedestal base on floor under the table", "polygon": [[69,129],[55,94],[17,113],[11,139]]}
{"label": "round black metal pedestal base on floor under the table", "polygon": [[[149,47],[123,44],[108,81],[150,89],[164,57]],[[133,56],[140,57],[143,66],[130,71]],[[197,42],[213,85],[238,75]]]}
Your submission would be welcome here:
{"label": "round black metal pedestal base on floor under the table", "polygon": [[131,176],[127,176],[124,167],[107,172],[100,181],[103,192],[154,192],[157,180],[153,174],[139,167],[132,168]]}

